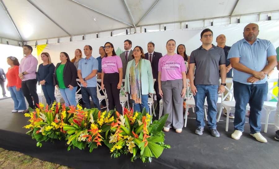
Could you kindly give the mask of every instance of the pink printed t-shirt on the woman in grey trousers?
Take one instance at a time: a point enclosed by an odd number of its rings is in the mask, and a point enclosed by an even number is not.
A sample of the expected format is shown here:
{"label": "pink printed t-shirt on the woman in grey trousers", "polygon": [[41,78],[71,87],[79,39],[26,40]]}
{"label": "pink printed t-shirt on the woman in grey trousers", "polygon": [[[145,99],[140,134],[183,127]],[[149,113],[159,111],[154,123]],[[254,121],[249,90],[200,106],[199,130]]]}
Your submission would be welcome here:
{"label": "pink printed t-shirt on the woman in grey trousers", "polygon": [[178,54],[161,57],[159,59],[158,71],[162,72],[161,81],[182,79],[181,72],[186,71],[183,57]]}

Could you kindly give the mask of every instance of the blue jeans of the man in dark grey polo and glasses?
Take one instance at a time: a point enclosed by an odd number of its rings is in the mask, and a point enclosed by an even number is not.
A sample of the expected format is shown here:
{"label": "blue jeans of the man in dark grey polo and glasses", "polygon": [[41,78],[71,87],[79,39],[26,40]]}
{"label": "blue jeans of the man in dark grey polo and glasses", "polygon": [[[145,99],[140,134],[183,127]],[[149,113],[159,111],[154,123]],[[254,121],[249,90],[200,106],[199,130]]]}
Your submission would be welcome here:
{"label": "blue jeans of the man in dark grey polo and glasses", "polygon": [[216,129],[217,101],[219,85],[196,85],[197,92],[194,96],[196,104],[196,127],[205,127],[204,122],[204,102],[208,105],[208,127]]}

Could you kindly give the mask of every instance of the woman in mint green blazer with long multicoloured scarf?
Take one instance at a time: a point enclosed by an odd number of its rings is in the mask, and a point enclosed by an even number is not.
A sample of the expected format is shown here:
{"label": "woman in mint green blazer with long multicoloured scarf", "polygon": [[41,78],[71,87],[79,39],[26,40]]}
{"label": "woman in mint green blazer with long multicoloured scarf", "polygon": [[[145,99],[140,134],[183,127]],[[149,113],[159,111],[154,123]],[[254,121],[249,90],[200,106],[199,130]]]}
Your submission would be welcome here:
{"label": "woman in mint green blazer with long multicoloured scarf", "polygon": [[134,48],[132,58],[127,64],[125,92],[131,95],[134,112],[141,112],[144,107],[149,112],[148,94],[154,91],[151,63],[144,59],[144,51],[139,46]]}

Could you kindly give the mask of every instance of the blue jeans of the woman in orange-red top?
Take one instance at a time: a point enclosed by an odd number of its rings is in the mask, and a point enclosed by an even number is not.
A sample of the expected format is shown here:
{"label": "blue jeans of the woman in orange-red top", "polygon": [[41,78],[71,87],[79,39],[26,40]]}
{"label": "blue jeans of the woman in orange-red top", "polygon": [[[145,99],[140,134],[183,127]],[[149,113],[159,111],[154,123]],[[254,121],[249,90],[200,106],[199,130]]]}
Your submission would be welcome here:
{"label": "blue jeans of the woman in orange-red top", "polygon": [[11,93],[11,98],[14,100],[14,109],[15,110],[25,110],[26,109],[26,103],[25,99],[22,93],[22,90],[16,91],[16,87],[12,86],[9,87],[9,91]]}

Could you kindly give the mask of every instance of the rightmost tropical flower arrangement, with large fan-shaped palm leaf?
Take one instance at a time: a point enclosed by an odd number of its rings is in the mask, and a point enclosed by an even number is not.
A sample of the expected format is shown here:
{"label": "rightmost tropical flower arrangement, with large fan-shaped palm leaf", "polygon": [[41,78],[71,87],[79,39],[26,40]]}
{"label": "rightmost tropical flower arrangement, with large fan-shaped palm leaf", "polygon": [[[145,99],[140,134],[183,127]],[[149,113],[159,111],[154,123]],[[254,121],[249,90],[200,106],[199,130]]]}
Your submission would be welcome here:
{"label": "rightmost tropical flower arrangement, with large fan-shaped palm leaf", "polygon": [[112,153],[111,157],[131,153],[132,162],[137,158],[142,162],[152,162],[152,157],[158,158],[164,149],[170,148],[170,145],[164,144],[162,131],[168,114],[152,124],[152,117],[145,109],[141,113],[124,109],[122,115],[116,112],[116,116],[104,140]]}

